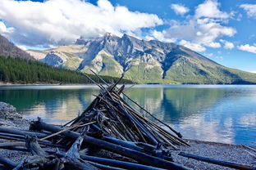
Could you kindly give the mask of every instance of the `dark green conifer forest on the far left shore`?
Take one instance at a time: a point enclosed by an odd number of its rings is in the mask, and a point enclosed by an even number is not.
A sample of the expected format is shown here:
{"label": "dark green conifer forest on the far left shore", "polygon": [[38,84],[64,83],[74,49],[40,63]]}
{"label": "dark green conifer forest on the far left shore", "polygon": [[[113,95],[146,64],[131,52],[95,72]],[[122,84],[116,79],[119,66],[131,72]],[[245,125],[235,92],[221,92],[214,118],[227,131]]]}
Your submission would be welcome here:
{"label": "dark green conifer forest on the far left shore", "polygon": [[[95,82],[100,82],[96,75],[87,74]],[[102,77],[107,83],[118,78]],[[36,60],[0,57],[0,82],[3,83],[92,83],[85,74],[70,69],[54,68]],[[121,83],[132,83],[122,79]]]}

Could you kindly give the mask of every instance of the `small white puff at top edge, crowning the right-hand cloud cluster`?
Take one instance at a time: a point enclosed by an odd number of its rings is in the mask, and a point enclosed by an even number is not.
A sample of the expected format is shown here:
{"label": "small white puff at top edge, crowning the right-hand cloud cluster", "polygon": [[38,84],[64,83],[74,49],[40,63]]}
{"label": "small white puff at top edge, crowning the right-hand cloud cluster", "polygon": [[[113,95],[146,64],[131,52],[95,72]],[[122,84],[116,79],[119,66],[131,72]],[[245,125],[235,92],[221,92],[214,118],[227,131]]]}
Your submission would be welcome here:
{"label": "small white puff at top edge, crowning the right-hand cloud cluster", "polygon": [[226,19],[230,17],[224,11],[219,10],[220,4],[216,0],[206,0],[195,9],[195,17],[209,17]]}

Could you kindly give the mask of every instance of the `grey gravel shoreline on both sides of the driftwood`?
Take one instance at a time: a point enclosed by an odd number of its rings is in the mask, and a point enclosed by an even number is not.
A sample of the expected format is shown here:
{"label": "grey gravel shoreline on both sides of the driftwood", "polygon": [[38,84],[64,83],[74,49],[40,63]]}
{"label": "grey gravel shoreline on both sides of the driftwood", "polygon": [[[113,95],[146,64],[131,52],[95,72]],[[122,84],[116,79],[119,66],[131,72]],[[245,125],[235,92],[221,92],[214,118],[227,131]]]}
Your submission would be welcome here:
{"label": "grey gravel shoreline on both sides of the driftwood", "polygon": [[[2,121],[2,119],[0,119],[0,127],[28,130],[29,125],[30,121],[23,118],[16,119],[15,121]],[[3,141],[6,140],[0,139],[0,143]],[[200,170],[233,169],[215,165],[213,163],[204,163],[194,159],[187,159],[180,156],[180,152],[197,154],[200,156],[232,163],[240,163],[251,166],[252,168],[256,168],[255,159],[246,152],[250,150],[247,150],[243,145],[226,144],[213,141],[199,141],[191,139],[185,139],[185,141],[187,141],[190,146],[176,145],[177,148],[179,148],[180,150],[171,150],[171,156],[174,159],[175,163],[180,163],[188,168]],[[253,148],[256,149],[256,147]],[[29,153],[21,151],[0,149],[0,156],[11,159],[16,163],[20,162],[22,159],[29,155]]]}

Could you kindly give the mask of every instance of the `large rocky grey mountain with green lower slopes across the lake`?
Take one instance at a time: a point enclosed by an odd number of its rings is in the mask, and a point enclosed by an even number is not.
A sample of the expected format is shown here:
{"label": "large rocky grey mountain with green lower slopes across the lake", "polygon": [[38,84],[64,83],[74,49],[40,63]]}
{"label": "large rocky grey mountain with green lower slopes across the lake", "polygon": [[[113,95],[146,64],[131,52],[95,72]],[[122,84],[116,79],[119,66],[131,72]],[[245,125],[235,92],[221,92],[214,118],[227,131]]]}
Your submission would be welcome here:
{"label": "large rocky grey mountain with green lower slopes across the lake", "polygon": [[189,48],[127,34],[79,38],[70,46],[38,52],[46,53],[39,60],[48,65],[115,77],[125,74],[137,83],[256,83],[256,74],[219,65]]}

